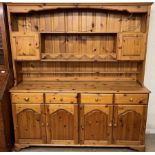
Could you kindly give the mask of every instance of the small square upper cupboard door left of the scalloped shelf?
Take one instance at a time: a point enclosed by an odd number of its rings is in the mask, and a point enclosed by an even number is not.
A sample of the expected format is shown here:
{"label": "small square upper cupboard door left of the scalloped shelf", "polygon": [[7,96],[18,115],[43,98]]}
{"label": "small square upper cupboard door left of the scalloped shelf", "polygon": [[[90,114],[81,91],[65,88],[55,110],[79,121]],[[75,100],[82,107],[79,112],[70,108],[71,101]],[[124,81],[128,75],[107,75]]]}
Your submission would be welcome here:
{"label": "small square upper cupboard door left of the scalloped shelf", "polygon": [[39,34],[31,32],[12,33],[12,52],[15,60],[39,60]]}

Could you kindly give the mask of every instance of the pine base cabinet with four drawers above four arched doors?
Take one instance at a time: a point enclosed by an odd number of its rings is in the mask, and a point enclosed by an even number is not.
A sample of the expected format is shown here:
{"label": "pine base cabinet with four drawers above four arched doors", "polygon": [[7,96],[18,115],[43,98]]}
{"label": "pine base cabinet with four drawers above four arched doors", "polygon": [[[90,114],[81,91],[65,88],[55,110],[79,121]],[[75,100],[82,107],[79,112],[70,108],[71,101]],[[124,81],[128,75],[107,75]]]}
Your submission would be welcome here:
{"label": "pine base cabinet with four drawers above four arched doors", "polygon": [[[121,95],[116,102],[114,94],[25,95],[12,94],[18,148],[40,144],[144,149],[148,94]],[[129,104],[131,97],[138,102]],[[118,103],[123,100],[127,103]]]}

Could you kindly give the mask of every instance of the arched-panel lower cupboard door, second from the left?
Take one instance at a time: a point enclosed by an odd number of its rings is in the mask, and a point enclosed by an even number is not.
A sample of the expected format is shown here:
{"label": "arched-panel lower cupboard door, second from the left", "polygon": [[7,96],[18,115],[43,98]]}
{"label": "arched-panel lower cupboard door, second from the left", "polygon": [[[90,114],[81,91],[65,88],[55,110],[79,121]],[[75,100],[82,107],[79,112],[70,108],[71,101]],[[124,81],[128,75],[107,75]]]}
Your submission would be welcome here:
{"label": "arched-panel lower cupboard door, second from the left", "polygon": [[78,113],[77,105],[46,104],[47,143],[77,144]]}

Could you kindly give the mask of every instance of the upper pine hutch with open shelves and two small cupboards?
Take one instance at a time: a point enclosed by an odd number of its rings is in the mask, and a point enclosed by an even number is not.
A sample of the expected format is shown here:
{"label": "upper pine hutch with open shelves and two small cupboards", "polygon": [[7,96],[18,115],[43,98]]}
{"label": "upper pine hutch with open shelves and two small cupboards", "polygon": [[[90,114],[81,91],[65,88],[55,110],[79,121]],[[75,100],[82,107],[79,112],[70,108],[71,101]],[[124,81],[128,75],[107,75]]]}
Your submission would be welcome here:
{"label": "upper pine hutch with open shelves and two small cupboards", "polygon": [[[26,89],[31,82],[33,85],[51,82],[52,89],[54,81],[56,85],[61,82],[67,85],[70,81],[74,87],[76,82],[78,85],[103,82],[110,91],[108,82],[113,81],[116,85],[111,91],[119,91],[118,83],[131,82],[135,91],[141,87],[145,92],[150,6],[151,3],[9,3],[16,86],[12,90]],[[95,91],[101,90],[98,84],[94,87]],[[44,91],[45,87],[39,88]],[[54,88],[52,91],[57,91]],[[92,90],[91,86],[89,89]],[[131,90],[126,84],[120,91],[123,89]]]}

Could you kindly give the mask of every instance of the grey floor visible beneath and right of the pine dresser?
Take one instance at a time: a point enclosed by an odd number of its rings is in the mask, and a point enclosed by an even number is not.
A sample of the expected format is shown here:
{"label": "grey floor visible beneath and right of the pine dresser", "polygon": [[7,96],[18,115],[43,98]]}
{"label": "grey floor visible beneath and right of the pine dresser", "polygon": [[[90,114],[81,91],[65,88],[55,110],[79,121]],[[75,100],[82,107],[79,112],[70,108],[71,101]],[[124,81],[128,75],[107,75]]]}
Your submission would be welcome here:
{"label": "grey floor visible beneath and right of the pine dresser", "polygon": [[[155,134],[146,135],[146,152],[155,152]],[[134,152],[127,148],[29,147],[21,152]]]}

